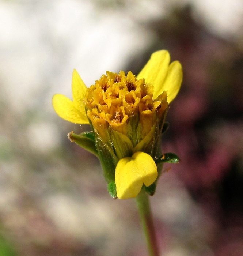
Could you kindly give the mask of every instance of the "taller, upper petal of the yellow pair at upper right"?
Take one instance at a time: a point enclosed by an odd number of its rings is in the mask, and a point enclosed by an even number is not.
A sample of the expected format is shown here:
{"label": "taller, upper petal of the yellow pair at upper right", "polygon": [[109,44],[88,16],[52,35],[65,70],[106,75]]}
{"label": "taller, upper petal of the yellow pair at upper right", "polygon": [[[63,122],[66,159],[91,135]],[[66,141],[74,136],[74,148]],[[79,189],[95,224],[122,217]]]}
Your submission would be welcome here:
{"label": "taller, upper petal of the yellow pair at upper right", "polygon": [[[150,60],[137,75],[137,79],[144,78],[146,83],[152,83],[154,93],[163,85],[170,64],[170,54],[167,50],[154,52]],[[158,94],[159,95],[159,94]]]}

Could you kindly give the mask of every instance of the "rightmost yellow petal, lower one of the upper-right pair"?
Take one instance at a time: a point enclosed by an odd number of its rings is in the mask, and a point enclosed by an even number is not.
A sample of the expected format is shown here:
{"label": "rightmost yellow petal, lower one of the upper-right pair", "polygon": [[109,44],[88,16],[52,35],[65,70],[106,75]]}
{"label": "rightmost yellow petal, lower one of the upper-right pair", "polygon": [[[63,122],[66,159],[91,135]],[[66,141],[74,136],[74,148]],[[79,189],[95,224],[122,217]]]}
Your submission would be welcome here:
{"label": "rightmost yellow petal, lower one of the upper-right pair", "polygon": [[170,104],[171,101],[178,94],[182,83],[182,65],[179,61],[174,61],[170,64],[164,83],[160,86],[156,86],[154,90],[153,98],[157,98],[163,91],[167,91],[167,101]]}

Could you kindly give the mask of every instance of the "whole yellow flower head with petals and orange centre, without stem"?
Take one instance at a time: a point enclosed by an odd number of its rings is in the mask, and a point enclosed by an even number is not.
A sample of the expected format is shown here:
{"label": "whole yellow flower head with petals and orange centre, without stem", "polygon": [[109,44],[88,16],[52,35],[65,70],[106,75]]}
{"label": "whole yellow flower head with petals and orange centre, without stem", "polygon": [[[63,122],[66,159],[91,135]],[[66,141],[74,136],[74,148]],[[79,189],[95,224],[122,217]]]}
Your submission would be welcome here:
{"label": "whole yellow flower head with petals and orange centre, without stem", "polygon": [[[53,108],[60,117],[91,124],[96,138],[92,148],[97,148],[107,182],[115,181],[118,198],[136,197],[143,184],[148,187],[156,181],[153,158],[160,152],[157,148],[168,104],[181,82],[181,64],[170,64],[170,54],[160,50],[137,76],[130,71],[127,75],[107,71],[90,88],[74,70],[73,101],[61,94],[53,96]],[[86,148],[92,143],[86,135],[79,143],[83,140]],[[109,156],[111,160],[106,160]]]}

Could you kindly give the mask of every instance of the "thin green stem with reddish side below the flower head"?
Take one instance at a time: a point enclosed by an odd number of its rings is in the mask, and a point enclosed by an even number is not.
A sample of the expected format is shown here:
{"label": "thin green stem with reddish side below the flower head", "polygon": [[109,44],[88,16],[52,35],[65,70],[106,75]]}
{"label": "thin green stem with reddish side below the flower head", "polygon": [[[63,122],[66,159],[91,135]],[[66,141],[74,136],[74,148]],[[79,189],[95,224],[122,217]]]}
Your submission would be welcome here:
{"label": "thin green stem with reddish side below the flower head", "polygon": [[137,195],[136,200],[144,234],[147,240],[149,256],[159,256],[159,249],[148,194],[141,189],[141,192]]}

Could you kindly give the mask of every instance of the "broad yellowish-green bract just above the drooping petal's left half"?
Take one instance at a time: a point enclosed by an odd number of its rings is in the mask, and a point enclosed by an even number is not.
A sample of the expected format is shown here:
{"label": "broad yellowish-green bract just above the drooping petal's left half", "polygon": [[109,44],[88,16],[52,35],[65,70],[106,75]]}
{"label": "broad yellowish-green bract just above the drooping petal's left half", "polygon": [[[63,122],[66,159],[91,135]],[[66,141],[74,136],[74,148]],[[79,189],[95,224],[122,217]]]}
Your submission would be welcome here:
{"label": "broad yellowish-green bract just above the drooping petal's left half", "polygon": [[129,138],[121,132],[117,132],[110,127],[108,130],[112,146],[118,159],[130,157],[133,154],[133,144]]}

